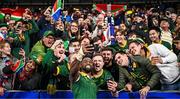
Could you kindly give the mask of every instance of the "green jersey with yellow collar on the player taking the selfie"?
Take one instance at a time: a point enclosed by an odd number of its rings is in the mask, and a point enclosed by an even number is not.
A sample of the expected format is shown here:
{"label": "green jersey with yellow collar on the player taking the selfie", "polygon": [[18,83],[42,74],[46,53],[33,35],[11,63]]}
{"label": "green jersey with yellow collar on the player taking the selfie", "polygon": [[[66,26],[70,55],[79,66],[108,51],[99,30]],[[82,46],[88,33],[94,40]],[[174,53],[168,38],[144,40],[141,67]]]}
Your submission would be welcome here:
{"label": "green jersey with yellow collar on the player taking the selfie", "polygon": [[80,73],[78,81],[72,83],[75,99],[96,99],[97,86],[85,73]]}

